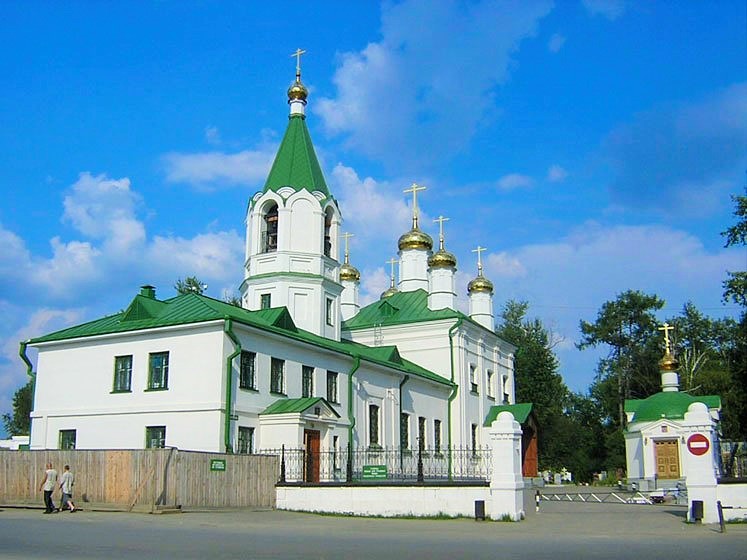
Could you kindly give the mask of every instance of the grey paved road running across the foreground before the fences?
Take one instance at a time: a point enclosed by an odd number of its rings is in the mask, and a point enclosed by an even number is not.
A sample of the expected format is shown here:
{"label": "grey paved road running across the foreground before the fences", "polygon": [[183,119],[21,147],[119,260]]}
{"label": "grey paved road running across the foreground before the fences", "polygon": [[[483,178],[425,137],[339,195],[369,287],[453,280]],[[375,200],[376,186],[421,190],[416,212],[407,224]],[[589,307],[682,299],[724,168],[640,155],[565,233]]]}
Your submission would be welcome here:
{"label": "grey paved road running across the foreground before the fences", "polygon": [[0,558],[747,559],[747,525],[684,508],[543,503],[521,523],[326,517],[281,511],[147,515],[0,511]]}

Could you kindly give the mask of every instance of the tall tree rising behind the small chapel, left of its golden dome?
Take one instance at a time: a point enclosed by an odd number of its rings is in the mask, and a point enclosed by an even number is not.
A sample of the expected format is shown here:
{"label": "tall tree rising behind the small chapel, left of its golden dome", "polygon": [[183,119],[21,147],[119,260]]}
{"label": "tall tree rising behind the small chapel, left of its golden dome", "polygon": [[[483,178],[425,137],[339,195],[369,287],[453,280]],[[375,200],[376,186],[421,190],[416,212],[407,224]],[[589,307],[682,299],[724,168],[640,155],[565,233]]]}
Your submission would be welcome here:
{"label": "tall tree rising behind the small chapel, left of its golden dome", "polygon": [[[614,409],[607,413],[618,428],[625,427],[625,400],[647,397],[659,387],[656,362],[661,350],[654,312],[663,306],[655,295],[628,290],[605,302],[594,323],[581,321],[581,342],[576,345],[580,350],[609,347],[607,357],[599,361],[596,383],[615,386]],[[599,389],[609,406],[609,388]]]}

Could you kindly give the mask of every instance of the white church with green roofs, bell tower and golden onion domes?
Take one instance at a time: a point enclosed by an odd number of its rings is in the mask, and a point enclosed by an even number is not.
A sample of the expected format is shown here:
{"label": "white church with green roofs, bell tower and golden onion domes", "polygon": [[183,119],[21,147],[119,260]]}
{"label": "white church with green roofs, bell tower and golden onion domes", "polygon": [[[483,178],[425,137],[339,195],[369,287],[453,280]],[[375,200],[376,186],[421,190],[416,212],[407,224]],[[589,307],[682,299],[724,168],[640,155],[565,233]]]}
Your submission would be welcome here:
{"label": "white church with green roofs, bell tower and golden onion domes", "polygon": [[[424,187],[406,191],[398,280],[361,307],[307,97],[297,66],[285,135],[248,204],[241,307],[198,293],[159,299],[143,286],[124,311],[21,343],[36,378],[31,449],[439,452],[487,443],[492,419],[516,409],[515,347],[494,333],[484,249],[465,314],[446,218],[436,250],[418,221]],[[519,408],[526,417],[531,405]]]}

